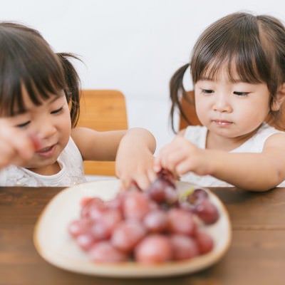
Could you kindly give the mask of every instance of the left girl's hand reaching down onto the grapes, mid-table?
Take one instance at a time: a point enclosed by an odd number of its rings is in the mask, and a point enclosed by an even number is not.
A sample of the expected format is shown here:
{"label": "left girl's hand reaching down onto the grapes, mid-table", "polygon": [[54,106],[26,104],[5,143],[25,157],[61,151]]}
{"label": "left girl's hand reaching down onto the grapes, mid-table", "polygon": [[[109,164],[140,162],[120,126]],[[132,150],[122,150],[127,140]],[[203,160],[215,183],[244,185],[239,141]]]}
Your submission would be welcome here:
{"label": "left girl's hand reaching down onto the grapes, mid-table", "polygon": [[116,156],[116,175],[122,190],[136,186],[146,190],[157,176],[153,170],[154,138],[145,130],[135,129],[121,140]]}

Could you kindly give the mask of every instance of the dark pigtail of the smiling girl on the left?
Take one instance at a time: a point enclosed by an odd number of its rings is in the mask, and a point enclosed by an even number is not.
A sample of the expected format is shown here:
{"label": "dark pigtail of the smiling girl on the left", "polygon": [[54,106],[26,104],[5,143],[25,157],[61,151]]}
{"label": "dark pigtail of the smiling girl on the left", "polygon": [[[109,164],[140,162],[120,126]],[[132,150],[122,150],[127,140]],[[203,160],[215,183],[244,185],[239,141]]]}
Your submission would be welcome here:
{"label": "dark pigtail of the smiling girl on the left", "polygon": [[71,108],[71,125],[74,128],[78,122],[80,114],[80,97],[81,97],[81,81],[76,72],[76,69],[68,58],[79,58],[71,53],[56,53],[61,61],[64,78],[66,80],[66,88],[64,93],[66,94],[66,100]]}

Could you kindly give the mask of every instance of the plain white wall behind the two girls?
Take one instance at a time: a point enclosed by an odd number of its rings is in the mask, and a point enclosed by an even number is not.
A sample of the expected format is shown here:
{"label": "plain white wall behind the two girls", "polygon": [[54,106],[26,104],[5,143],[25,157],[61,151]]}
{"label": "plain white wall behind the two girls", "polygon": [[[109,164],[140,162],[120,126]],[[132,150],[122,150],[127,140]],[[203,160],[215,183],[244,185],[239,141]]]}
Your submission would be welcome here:
{"label": "plain white wall behind the two girls", "polygon": [[1,21],[21,21],[41,31],[55,51],[81,56],[83,88],[121,90],[130,127],[151,130],[158,148],[173,136],[172,73],[187,63],[199,33],[234,11],[285,21],[284,0],[0,0]]}

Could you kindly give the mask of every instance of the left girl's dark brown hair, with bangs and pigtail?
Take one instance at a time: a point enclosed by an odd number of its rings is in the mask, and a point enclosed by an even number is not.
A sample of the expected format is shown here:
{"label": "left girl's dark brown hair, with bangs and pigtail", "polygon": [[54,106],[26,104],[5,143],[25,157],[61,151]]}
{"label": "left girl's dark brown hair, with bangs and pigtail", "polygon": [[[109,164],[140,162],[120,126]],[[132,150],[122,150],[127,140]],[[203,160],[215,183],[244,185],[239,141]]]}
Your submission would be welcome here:
{"label": "left girl's dark brown hair, with bangs and pigtail", "polygon": [[80,81],[68,58],[78,59],[71,53],[54,53],[33,28],[1,22],[0,113],[11,116],[15,108],[25,110],[23,88],[35,105],[64,90],[74,127],[79,116]]}

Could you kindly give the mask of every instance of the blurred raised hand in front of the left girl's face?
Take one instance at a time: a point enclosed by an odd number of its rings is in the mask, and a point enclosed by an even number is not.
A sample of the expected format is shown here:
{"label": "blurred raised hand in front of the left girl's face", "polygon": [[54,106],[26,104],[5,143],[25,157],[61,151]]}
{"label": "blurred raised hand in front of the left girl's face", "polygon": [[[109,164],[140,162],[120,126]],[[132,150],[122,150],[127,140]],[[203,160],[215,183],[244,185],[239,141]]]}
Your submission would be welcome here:
{"label": "blurred raised hand in front of the left girl's face", "polygon": [[31,159],[39,140],[15,128],[11,119],[0,119],[0,169],[8,165],[24,165]]}

